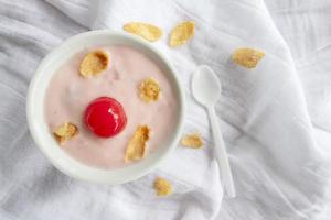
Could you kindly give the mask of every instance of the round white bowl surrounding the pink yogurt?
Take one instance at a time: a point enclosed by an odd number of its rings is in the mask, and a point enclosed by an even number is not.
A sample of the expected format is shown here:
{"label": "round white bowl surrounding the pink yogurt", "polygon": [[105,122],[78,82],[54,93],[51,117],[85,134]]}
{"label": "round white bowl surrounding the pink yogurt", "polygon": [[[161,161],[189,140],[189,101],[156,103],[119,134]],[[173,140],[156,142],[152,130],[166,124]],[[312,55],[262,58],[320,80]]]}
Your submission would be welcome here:
{"label": "round white bowl surrounding the pink yogurt", "polygon": [[[44,117],[44,97],[50,80],[55,70],[77,52],[97,45],[122,44],[135,47],[156,62],[168,75],[179,102],[175,129],[169,140],[160,145],[159,150],[145,160],[119,169],[99,169],[87,166],[67,155],[58,147],[53,135],[50,133]],[[75,35],[65,41],[60,47],[51,52],[40,64],[30,82],[26,117],[30,132],[39,148],[45,154],[50,162],[64,174],[84,180],[103,184],[122,184],[137,179],[153,170],[162,160],[175,147],[183,127],[184,96],[183,89],[177,78],[175,70],[170,62],[150,43],[125,33],[108,30],[92,31]]]}

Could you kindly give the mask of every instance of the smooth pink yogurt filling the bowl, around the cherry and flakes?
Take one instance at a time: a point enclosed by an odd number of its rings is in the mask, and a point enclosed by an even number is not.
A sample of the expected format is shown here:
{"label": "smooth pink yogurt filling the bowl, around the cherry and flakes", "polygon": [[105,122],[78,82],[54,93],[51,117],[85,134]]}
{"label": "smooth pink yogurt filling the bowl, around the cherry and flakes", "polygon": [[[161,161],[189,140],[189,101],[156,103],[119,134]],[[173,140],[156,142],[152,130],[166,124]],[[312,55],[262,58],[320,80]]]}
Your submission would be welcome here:
{"label": "smooth pink yogurt filling the bowl, around the cherry and flakes", "polygon": [[[175,125],[178,102],[166,74],[139,51],[121,45],[97,50],[109,54],[108,69],[96,77],[83,78],[78,69],[87,50],[67,61],[50,82],[45,97],[45,118],[50,131],[67,121],[78,127],[79,134],[58,146],[72,157],[89,166],[120,168],[127,165],[124,161],[125,151],[139,124],[147,124],[152,131],[148,154],[167,141]],[[147,77],[160,84],[161,97],[156,102],[146,103],[139,97],[138,87]],[[128,119],[124,131],[109,139],[96,136],[83,120],[88,103],[104,96],[117,99]]]}

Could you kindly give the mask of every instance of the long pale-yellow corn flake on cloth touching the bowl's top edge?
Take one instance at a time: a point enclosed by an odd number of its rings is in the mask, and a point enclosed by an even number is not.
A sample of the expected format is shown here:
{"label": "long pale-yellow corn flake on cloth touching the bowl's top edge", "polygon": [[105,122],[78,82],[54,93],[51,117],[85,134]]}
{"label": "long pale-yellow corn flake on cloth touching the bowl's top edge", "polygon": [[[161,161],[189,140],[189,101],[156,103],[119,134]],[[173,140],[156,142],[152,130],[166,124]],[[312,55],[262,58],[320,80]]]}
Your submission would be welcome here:
{"label": "long pale-yellow corn flake on cloth touching the bowl's top edge", "polygon": [[141,36],[142,38],[154,42],[162,36],[162,30],[152,24],[142,22],[130,22],[122,28],[126,32]]}

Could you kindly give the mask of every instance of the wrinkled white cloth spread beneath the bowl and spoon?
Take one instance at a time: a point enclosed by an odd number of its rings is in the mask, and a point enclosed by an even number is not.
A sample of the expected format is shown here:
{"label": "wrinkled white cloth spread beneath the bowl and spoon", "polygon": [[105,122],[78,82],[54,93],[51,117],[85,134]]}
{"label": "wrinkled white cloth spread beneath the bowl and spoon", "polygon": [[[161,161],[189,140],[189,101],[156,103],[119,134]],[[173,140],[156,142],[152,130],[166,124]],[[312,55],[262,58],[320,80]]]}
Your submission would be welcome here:
{"label": "wrinkled white cloth spread beneath the bowl and spoon", "polygon": [[[183,20],[195,22],[195,35],[170,48],[169,32]],[[158,170],[121,186],[72,179],[29,134],[29,81],[65,38],[88,30],[121,31],[130,21],[164,31],[153,45],[178,69],[186,95],[185,131],[200,131],[205,147],[179,146]],[[0,0],[0,219],[330,219],[330,21],[327,0]],[[231,62],[243,46],[266,53],[256,69]],[[190,78],[200,64],[210,65],[223,85],[216,108],[235,199],[223,198],[206,113],[191,96]],[[170,179],[174,194],[156,197],[156,176]]]}

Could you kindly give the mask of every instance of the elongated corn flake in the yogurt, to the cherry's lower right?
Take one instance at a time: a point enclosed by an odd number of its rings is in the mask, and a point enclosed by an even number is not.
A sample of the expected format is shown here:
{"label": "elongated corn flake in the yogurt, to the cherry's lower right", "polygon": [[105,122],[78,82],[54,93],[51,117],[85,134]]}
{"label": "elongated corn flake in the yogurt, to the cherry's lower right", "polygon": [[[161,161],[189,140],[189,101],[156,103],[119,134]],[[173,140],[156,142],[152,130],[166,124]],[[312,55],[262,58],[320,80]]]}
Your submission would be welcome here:
{"label": "elongated corn flake in the yogurt, to the cherry's lower right", "polygon": [[149,138],[150,129],[147,125],[139,125],[127,146],[125,162],[141,160],[146,154],[146,142]]}

